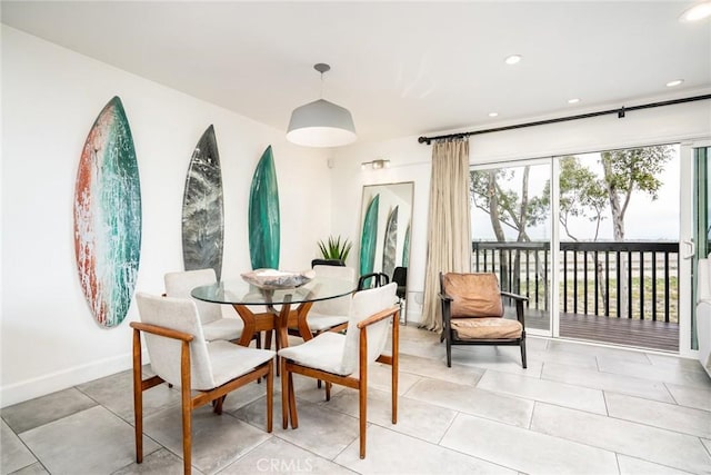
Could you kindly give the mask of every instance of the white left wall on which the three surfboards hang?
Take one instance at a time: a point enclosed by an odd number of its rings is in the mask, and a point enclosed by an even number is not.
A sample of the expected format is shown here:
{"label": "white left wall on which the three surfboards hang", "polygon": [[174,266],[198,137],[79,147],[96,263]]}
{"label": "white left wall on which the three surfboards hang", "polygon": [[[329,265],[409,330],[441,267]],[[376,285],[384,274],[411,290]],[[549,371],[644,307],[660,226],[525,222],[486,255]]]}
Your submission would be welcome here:
{"label": "white left wall on which the three surfboards hang", "polygon": [[[99,111],[119,96],[133,133],[142,194],[138,289],[161,293],[182,268],[188,162],[213,123],[224,187],[224,278],[250,268],[247,201],[272,145],[281,202],[281,268],[310,266],[330,232],[323,151],[284,132],[2,26],[2,321],[0,404],[7,406],[130,367],[129,321],[99,327],[74,265],[77,166]],[[308,184],[318,186],[308,186]],[[318,210],[318,212],[313,212]]]}

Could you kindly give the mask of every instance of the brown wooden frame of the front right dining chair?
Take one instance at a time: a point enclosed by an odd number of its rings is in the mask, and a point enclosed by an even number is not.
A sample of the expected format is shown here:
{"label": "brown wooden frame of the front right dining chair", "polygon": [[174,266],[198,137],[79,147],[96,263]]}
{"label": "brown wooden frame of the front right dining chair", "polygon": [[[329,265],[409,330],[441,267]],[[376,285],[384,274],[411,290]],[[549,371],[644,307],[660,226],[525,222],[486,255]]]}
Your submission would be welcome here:
{"label": "brown wooden frame of the front right dining chair", "polygon": [[399,307],[392,307],[371,315],[358,324],[360,331],[359,344],[359,375],[358,377],[341,376],[333,373],[314,369],[308,366],[301,366],[288,358],[281,358],[281,412],[282,427],[289,426],[289,415],[291,415],[291,428],[299,427],[299,416],[297,414],[297,398],[293,388],[293,374],[299,374],[319,380],[327,382],[326,400],[331,399],[330,384],[358,389],[359,400],[359,419],[360,419],[360,458],[365,458],[365,426],[368,422],[368,327],[383,319],[393,317],[392,325],[392,354],[382,354],[377,362],[391,366],[391,390],[392,390],[392,423],[398,423],[398,370],[399,370]]}

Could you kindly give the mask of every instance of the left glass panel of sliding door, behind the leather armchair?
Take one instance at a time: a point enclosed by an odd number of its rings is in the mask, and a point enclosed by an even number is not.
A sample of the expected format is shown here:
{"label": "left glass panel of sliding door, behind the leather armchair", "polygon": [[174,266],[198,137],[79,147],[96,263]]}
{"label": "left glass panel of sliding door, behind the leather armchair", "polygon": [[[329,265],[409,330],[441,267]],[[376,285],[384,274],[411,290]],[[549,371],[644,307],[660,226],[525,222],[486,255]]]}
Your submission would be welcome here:
{"label": "left glass panel of sliding door, behind the leather armchair", "polygon": [[[552,160],[471,170],[472,271],[499,276],[503,290],[529,298],[530,334],[552,334]],[[507,304],[507,313],[513,313]]]}

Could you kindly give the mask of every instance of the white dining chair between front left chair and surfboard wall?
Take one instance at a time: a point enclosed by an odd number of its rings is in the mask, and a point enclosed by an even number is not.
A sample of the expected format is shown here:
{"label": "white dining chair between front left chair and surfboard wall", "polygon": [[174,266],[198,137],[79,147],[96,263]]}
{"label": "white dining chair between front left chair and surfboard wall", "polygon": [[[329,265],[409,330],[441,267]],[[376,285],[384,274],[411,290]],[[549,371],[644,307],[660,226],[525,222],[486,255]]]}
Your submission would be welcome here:
{"label": "white dining chair between front left chair and surfboard wall", "polygon": [[[190,296],[190,291],[193,288],[218,281],[214,269],[207,268],[168,273],[163,277],[163,280],[166,284],[166,295],[168,297],[189,298],[196,303],[200,321],[202,323],[202,330],[208,342],[218,339],[237,342],[242,336],[244,323],[239,316],[234,315],[233,318],[224,317],[221,305],[199,300]],[[261,346],[259,338],[257,344],[258,347]]]}

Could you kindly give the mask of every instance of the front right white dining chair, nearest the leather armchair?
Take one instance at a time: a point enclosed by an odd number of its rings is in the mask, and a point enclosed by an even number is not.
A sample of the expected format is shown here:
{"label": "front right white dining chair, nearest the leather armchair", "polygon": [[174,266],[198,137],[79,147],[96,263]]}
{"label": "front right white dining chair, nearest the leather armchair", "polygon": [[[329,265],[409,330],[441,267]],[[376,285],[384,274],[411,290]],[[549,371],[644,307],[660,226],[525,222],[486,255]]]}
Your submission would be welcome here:
{"label": "front right white dining chair, nearest the leather armchair", "polygon": [[[398,422],[399,311],[397,284],[361,290],[353,295],[346,335],[326,331],[279,350],[281,357],[282,426],[299,427],[293,374],[358,389],[360,458],[365,458],[368,366],[373,362],[391,366],[392,423]],[[390,323],[393,321],[393,325]],[[384,352],[391,331],[390,354]],[[330,400],[327,384],[326,399]]]}

